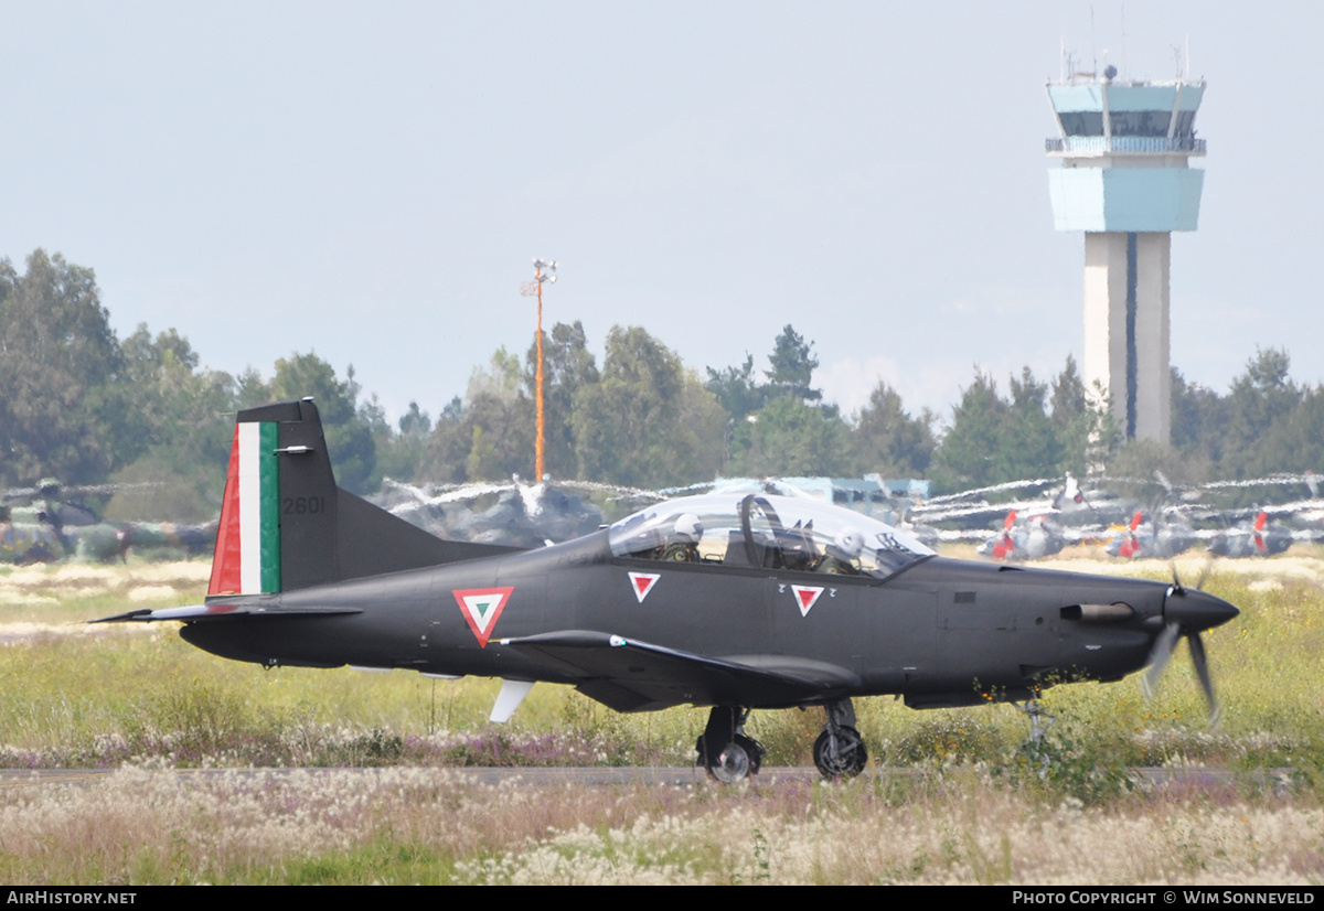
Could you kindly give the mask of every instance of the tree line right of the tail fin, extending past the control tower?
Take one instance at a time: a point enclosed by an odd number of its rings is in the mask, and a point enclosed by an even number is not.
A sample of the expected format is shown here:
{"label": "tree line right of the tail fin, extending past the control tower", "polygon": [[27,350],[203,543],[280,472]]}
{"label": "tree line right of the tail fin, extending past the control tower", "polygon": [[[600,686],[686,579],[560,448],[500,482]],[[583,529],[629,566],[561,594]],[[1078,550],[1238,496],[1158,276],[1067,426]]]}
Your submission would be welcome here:
{"label": "tree line right of the tail fin, extending past the control tower", "polygon": [[[504,348],[474,371],[442,412],[417,477],[491,481],[532,473],[534,358]],[[976,368],[944,428],[908,412],[878,383],[845,417],[813,387],[818,360],[792,326],[768,368],[752,355],[707,379],[642,328],[614,327],[601,371],[580,323],[544,342],[547,466],[553,477],[665,487],[724,475],[929,478],[937,491],[1023,478],[1120,477],[1177,482],[1300,473],[1324,465],[1324,389],[1288,379],[1288,358],[1259,351],[1226,396],[1173,372],[1173,445],[1123,440],[1107,409],[1090,405],[1072,358],[1050,381],[1029,367],[1006,393]],[[420,426],[429,425],[426,414]],[[414,420],[414,418],[410,418]],[[401,466],[404,467],[404,466]],[[406,477],[396,474],[396,477]]]}

